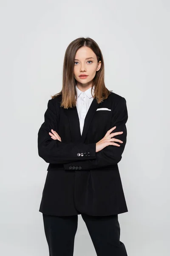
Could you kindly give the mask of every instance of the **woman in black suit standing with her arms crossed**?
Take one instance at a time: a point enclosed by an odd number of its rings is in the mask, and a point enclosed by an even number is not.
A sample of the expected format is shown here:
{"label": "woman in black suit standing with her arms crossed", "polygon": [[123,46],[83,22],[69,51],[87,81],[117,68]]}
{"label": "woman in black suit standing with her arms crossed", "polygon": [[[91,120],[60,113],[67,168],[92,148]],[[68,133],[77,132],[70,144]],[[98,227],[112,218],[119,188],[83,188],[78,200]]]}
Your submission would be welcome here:
{"label": "woman in black suit standing with her arms crossed", "polygon": [[48,101],[38,153],[49,163],[40,212],[50,256],[73,256],[81,214],[98,256],[127,256],[118,214],[127,212],[118,163],[126,144],[124,97],[105,87],[91,38],[65,52],[60,93]]}

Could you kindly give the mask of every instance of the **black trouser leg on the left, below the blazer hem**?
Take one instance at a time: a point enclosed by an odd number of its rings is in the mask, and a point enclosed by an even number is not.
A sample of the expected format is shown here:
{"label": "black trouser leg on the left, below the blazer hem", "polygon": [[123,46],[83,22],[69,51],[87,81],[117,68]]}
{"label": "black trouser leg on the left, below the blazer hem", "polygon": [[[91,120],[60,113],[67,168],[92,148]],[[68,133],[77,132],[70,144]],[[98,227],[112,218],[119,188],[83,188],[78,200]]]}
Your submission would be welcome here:
{"label": "black trouser leg on the left, below the blazer hem", "polygon": [[42,215],[49,256],[73,256],[78,215]]}

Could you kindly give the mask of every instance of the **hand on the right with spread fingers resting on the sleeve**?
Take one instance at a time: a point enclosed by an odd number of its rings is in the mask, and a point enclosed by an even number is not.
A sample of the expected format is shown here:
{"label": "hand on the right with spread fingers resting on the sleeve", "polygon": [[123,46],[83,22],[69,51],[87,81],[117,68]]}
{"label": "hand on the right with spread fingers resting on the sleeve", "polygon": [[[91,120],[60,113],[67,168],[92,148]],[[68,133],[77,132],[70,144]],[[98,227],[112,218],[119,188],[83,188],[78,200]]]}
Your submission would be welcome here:
{"label": "hand on the right with spread fingers resting on the sleeve", "polygon": [[108,130],[107,133],[105,134],[105,137],[103,137],[102,140],[99,140],[99,142],[96,143],[96,152],[102,150],[103,148],[107,147],[108,145],[120,147],[120,145],[115,143],[115,141],[119,142],[119,143],[123,143],[123,141],[115,139],[113,137],[116,135],[122,134],[123,131],[118,131],[118,132],[114,132],[111,134],[111,131],[113,131],[115,128],[116,128],[116,126],[111,128],[110,130]]}

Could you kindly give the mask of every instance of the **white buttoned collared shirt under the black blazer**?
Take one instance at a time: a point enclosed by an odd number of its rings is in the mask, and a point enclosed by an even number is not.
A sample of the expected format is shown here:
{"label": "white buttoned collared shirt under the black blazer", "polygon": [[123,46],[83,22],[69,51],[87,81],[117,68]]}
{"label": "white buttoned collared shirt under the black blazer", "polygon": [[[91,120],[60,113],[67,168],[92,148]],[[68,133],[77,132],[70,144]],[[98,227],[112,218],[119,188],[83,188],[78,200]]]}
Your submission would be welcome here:
{"label": "white buttoned collared shirt under the black blazer", "polygon": [[77,102],[76,102],[76,107],[77,107],[77,112],[79,115],[79,123],[80,123],[80,131],[82,135],[82,130],[85,122],[85,116],[88,112],[88,109],[90,108],[91,102],[94,99],[94,87],[92,89],[92,94],[91,95],[91,87],[88,88],[85,92],[82,92],[79,90],[79,88],[76,85],[76,91],[77,91]]}

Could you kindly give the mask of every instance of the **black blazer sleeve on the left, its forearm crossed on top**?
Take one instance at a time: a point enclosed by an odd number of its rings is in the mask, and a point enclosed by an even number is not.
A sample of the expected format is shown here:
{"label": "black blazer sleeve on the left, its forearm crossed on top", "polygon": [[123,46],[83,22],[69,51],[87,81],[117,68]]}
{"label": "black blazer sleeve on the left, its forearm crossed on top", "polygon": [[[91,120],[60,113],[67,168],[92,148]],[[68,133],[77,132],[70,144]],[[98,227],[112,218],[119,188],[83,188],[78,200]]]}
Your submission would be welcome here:
{"label": "black blazer sleeve on the left, its forearm crossed on top", "polygon": [[[44,122],[38,131],[38,154],[46,163],[68,163],[82,161],[85,158],[96,158],[96,143],[63,143],[53,140],[49,135],[51,129],[57,132],[59,122],[59,104],[54,99],[48,101],[47,110],[44,114]],[[88,156],[79,156],[78,153],[89,152]]]}

